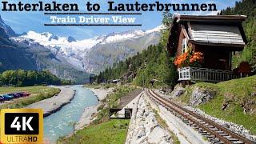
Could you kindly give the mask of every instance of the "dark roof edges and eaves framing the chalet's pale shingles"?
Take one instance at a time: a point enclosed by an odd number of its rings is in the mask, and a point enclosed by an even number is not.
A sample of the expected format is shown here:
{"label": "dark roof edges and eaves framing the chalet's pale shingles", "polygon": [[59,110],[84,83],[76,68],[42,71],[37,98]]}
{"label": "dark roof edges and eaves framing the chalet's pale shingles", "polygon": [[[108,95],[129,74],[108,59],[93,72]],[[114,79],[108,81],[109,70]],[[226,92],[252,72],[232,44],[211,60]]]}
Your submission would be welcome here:
{"label": "dark roof edges and eaves framing the chalet's pale shingles", "polygon": [[[242,22],[246,20],[245,15],[181,15],[174,14],[173,22],[170,26],[169,41],[167,42],[167,49],[170,54],[173,55],[178,48],[178,33],[180,30],[185,34],[186,39],[194,44],[203,46],[225,46],[234,47],[233,50],[241,51],[246,46],[246,34],[242,28]],[[216,26],[237,26],[243,42],[240,43],[218,43],[218,42],[200,42],[194,41],[191,32],[190,22],[204,24],[204,25],[216,25]]]}

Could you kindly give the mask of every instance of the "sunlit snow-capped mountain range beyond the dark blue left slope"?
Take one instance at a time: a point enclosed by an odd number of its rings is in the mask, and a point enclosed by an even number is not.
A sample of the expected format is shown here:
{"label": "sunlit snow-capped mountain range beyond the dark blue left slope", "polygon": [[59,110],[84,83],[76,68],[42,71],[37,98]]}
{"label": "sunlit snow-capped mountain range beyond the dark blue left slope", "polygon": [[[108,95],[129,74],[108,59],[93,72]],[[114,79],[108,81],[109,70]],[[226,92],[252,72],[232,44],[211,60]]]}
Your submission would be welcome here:
{"label": "sunlit snow-capped mountain range beyond the dark blue left slope", "polygon": [[76,69],[98,74],[114,62],[124,60],[150,45],[157,44],[161,29],[162,26],[152,30],[130,30],[80,41],[73,37],[65,38],[51,33],[39,34],[29,31],[11,39],[18,43],[38,43],[57,58],[65,59]]}

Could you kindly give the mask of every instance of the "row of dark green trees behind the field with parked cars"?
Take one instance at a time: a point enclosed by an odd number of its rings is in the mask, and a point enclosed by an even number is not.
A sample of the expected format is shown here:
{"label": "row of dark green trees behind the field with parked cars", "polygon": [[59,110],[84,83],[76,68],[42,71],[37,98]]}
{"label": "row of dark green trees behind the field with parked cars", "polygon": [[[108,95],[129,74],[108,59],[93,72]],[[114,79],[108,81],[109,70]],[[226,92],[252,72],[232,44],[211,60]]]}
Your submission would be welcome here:
{"label": "row of dark green trees behind the field with parked cars", "polygon": [[70,80],[62,80],[49,71],[34,70],[6,70],[0,74],[0,86],[34,86],[42,85],[70,85]]}

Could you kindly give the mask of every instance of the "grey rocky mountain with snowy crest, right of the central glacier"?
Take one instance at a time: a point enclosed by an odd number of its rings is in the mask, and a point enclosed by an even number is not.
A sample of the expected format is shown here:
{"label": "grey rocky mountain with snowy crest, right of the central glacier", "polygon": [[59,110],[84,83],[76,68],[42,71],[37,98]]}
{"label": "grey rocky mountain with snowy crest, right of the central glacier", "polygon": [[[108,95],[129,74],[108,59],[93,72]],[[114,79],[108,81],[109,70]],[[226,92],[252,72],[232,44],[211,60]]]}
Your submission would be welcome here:
{"label": "grey rocky mountain with snowy crest, right of the central glacier", "polygon": [[158,44],[160,37],[160,29],[110,34],[105,41],[94,46],[86,54],[85,69],[98,74],[106,67],[130,58],[150,45]]}

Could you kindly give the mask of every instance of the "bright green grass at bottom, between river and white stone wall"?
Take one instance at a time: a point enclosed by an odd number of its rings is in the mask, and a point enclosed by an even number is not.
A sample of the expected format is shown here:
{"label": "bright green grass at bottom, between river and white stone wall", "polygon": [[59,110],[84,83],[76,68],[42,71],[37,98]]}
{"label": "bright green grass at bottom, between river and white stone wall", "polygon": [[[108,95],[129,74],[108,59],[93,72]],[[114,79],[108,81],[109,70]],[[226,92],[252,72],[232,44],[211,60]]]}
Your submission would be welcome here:
{"label": "bright green grass at bottom, between river and white stone wall", "polygon": [[124,143],[130,120],[114,119],[78,130],[70,138],[60,138],[58,143]]}

